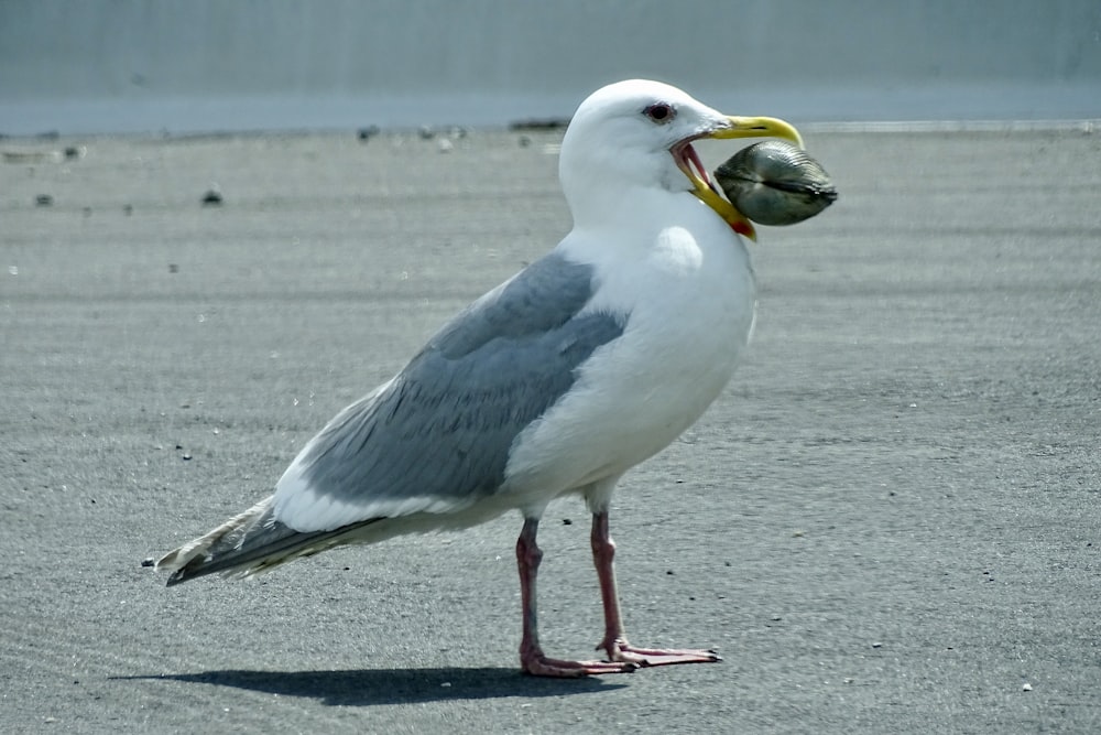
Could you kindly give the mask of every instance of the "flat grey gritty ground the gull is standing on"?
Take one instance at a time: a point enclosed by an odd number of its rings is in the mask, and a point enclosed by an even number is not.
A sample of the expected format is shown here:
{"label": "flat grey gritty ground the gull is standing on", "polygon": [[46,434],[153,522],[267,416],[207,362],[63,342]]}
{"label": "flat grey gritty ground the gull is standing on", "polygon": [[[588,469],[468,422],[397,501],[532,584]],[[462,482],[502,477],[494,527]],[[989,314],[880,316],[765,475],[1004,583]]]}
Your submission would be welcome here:
{"label": "flat grey gritty ground the gull is standing on", "polygon": [[[0,141],[0,729],[1101,729],[1089,129],[808,132],[839,202],[762,228],[750,359],[612,509],[632,640],[721,663],[521,675],[515,516],[141,565],[566,233],[525,136]],[[584,506],[541,543],[547,650],[589,656]]]}

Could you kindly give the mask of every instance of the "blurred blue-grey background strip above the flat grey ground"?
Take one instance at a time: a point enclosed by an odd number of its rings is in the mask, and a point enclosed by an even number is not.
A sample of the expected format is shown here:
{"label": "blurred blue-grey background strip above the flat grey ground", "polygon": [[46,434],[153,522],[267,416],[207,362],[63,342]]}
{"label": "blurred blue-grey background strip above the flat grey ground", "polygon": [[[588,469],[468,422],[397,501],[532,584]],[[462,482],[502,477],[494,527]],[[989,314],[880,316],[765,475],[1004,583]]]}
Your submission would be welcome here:
{"label": "blurred blue-grey background strip above the flat grey ground", "polygon": [[1101,0],[0,0],[0,133],[502,126],[645,76],[798,121],[1101,118]]}

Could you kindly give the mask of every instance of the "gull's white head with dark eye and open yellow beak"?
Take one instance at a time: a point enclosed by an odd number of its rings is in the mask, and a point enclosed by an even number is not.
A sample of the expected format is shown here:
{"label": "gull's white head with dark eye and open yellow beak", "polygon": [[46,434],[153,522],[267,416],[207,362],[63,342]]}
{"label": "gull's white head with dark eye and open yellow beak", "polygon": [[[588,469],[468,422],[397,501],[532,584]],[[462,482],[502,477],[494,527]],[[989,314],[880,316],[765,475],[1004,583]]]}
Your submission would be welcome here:
{"label": "gull's white head with dark eye and open yellow beak", "polygon": [[608,85],[581,102],[562,142],[559,179],[575,218],[595,187],[614,195],[651,186],[693,193],[734,231],[755,239],[753,225],[718,194],[693,148],[705,138],[784,138],[803,145],[783,120],[722,115],[667,84]]}

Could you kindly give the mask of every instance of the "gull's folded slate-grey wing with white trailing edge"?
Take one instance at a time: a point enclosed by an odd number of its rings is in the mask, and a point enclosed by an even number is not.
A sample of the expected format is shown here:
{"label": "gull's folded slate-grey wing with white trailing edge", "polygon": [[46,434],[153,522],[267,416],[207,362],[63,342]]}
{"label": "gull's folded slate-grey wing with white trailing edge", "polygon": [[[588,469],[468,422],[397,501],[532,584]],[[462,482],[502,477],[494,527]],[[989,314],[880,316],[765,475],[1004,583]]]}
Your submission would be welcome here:
{"label": "gull's folded slate-grey wing with white trailing edge", "polygon": [[[550,253],[475,302],[303,451],[313,500],[361,508],[348,518],[360,522],[371,508],[461,507],[495,491],[516,435],[623,333],[626,314],[579,314],[595,289],[590,266]],[[318,528],[334,523],[299,530]]]}

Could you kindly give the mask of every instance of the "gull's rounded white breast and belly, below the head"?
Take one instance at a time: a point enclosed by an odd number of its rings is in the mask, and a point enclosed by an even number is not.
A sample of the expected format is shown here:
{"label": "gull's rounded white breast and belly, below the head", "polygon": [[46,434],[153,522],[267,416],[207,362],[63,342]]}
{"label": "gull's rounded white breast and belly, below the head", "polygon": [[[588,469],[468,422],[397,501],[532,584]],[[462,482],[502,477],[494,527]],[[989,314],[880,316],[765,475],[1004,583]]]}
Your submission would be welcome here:
{"label": "gull's rounded white breast and belly, below the head", "polygon": [[[640,206],[628,213],[631,235],[575,231],[559,246],[597,266],[599,290],[586,310],[630,316],[623,335],[593,353],[573,389],[517,436],[509,491],[547,497],[619,476],[695,423],[730,380],[753,327],[749,253],[690,195],[662,199],[664,224]],[[678,204],[672,219],[669,199]]]}

